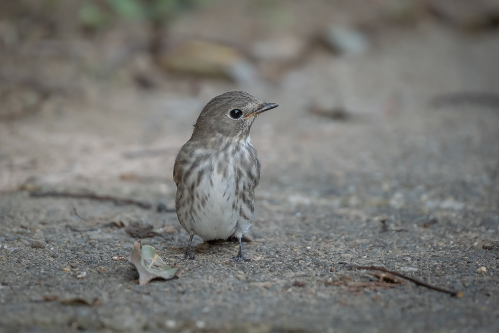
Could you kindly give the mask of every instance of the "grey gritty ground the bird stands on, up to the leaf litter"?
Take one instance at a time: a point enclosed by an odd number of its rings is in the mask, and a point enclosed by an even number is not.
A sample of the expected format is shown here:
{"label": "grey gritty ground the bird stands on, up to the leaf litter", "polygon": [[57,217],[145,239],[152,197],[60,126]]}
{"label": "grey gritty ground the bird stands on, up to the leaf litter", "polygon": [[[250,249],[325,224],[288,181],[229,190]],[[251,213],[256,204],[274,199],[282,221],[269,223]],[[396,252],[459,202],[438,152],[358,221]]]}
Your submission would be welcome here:
{"label": "grey gritty ground the bird stands on, up to the leaf litter", "polygon": [[[497,41],[497,30],[392,31],[363,55],[318,51],[273,85],[104,90],[92,107],[1,123],[0,331],[497,332]],[[328,87],[342,119],[310,112]],[[175,154],[203,105],[235,89],[280,104],[251,132],[262,160],[252,262],[197,237],[183,260],[187,233],[156,207],[174,206]],[[167,227],[141,243],[180,278],[138,285],[129,225]],[[464,295],[379,284],[352,265]]]}

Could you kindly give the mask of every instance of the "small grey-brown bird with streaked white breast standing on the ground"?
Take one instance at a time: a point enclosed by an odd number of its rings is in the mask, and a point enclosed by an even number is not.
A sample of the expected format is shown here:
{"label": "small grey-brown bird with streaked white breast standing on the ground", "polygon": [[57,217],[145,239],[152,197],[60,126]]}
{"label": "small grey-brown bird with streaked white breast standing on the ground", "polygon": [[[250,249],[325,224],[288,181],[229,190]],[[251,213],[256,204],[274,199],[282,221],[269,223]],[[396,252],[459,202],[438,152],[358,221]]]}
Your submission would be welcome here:
{"label": "small grey-brown bird with streaked white breast standing on the ground", "polygon": [[260,157],[250,139],[256,115],[279,106],[243,91],[213,98],[194,124],[191,139],[180,149],[173,167],[175,207],[180,224],[191,236],[184,259],[194,259],[194,235],[205,241],[241,237],[254,211],[254,188],[260,179]]}

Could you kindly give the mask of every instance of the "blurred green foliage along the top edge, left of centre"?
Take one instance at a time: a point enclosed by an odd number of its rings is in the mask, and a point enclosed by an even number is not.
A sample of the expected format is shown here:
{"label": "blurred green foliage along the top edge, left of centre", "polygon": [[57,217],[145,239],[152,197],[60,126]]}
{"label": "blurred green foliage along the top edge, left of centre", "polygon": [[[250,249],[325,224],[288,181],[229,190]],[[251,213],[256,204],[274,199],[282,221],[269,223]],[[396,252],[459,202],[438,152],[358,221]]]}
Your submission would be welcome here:
{"label": "blurred green foliage along the top edge, left of centre", "polygon": [[[57,0],[49,0],[57,1]],[[81,24],[98,29],[113,19],[144,20],[165,25],[180,13],[214,0],[84,0],[79,10]]]}

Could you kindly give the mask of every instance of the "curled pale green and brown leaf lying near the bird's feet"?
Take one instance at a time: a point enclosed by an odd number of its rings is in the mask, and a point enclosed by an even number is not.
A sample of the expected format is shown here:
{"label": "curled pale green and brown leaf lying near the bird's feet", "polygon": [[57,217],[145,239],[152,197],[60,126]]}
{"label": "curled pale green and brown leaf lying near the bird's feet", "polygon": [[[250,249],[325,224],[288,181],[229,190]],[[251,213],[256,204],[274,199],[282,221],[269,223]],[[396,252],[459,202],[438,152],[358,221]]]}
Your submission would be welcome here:
{"label": "curled pale green and brown leaf lying near the bird's feet", "polygon": [[139,242],[133,244],[133,251],[128,256],[128,261],[132,263],[139,272],[139,285],[144,286],[152,279],[162,278],[165,280],[180,276],[180,267],[167,266],[163,259],[156,254],[156,249],[152,246],[140,246]]}

